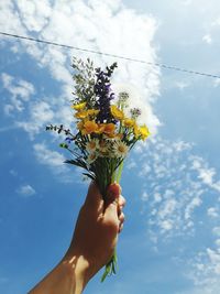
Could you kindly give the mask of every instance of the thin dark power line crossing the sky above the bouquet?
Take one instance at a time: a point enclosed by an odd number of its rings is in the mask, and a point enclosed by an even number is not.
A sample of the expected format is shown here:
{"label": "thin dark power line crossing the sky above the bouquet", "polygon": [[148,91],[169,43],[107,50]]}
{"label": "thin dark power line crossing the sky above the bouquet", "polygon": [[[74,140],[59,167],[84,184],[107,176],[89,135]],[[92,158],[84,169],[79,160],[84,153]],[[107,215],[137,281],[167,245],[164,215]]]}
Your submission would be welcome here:
{"label": "thin dark power line crossing the sky above the bouquet", "polygon": [[199,76],[212,77],[212,78],[219,78],[220,79],[219,75],[212,75],[212,74],[208,74],[208,73],[190,70],[190,69],[182,68],[182,67],[178,67],[178,66],[172,66],[172,65],[166,65],[166,64],[162,64],[162,63],[151,63],[151,62],[145,62],[145,61],[135,59],[135,58],[131,58],[131,57],[114,55],[114,54],[110,54],[110,53],[103,53],[103,52],[99,52],[99,51],[95,51],[95,50],[76,47],[76,46],[72,46],[72,45],[65,45],[65,44],[61,44],[61,43],[56,43],[56,42],[52,42],[52,41],[46,41],[46,40],[34,39],[34,37],[30,37],[30,36],[10,34],[10,33],[6,33],[6,32],[0,32],[0,34],[4,35],[4,36],[16,37],[16,39],[21,39],[21,40],[31,41],[31,42],[37,42],[37,43],[43,43],[43,44],[64,47],[64,48],[72,48],[72,50],[77,50],[77,51],[82,51],[82,52],[89,52],[89,53],[92,53],[92,54],[105,55],[105,56],[114,57],[114,58],[119,58],[119,59],[124,59],[124,61],[130,61],[130,62],[135,62],[135,63],[142,63],[142,64],[147,64],[147,65],[154,65],[154,66],[157,66],[157,67],[161,67],[161,68],[165,68],[165,69],[172,69],[172,70],[176,70],[176,72],[182,72],[182,73],[187,73],[187,74],[193,74],[193,75],[199,75]]}

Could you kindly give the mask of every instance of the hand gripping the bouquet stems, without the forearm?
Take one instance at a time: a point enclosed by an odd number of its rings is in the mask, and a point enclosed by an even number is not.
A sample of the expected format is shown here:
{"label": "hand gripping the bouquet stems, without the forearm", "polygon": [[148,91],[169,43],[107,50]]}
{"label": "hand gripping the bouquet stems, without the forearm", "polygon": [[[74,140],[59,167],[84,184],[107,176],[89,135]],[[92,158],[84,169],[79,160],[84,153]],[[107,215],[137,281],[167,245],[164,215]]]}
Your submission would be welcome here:
{"label": "hand gripping the bouquet stems, without the forearm", "polygon": [[120,193],[120,186],[111,184],[105,202],[98,186],[91,183],[86,202],[80,209],[73,241],[65,259],[80,257],[86,283],[113,255],[118,233],[122,230],[124,221],[122,208],[125,199]]}

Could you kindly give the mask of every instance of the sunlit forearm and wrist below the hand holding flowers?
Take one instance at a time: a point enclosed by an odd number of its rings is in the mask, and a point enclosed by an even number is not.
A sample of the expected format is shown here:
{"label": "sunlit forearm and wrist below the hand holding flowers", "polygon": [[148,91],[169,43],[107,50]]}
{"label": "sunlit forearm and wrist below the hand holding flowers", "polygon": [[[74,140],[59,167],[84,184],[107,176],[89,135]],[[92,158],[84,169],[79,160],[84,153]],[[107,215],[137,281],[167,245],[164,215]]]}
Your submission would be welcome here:
{"label": "sunlit forearm and wrist below the hand holding flowers", "polygon": [[82,257],[66,255],[29,294],[80,294],[88,282]]}

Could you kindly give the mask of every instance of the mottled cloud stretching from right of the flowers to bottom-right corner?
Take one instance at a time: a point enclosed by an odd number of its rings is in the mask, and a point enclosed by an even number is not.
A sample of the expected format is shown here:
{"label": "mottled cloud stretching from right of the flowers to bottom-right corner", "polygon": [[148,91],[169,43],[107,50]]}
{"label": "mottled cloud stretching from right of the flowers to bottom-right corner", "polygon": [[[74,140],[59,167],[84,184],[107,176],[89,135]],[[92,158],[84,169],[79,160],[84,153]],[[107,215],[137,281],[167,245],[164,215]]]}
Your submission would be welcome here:
{"label": "mottled cloud stretching from right of the flowers to bottom-right corner", "polygon": [[[194,144],[160,137],[140,144],[134,156],[136,165],[131,168],[143,183],[141,215],[146,220],[152,246],[162,251],[167,242],[184,243],[183,248],[179,244],[177,262],[194,286],[178,293],[218,293],[220,205],[217,171],[201,156],[195,155]],[[206,242],[202,242],[205,231]],[[194,242],[195,237],[201,240],[200,244]],[[187,252],[184,249],[186,239],[191,242]],[[183,260],[180,250],[184,250]]]}

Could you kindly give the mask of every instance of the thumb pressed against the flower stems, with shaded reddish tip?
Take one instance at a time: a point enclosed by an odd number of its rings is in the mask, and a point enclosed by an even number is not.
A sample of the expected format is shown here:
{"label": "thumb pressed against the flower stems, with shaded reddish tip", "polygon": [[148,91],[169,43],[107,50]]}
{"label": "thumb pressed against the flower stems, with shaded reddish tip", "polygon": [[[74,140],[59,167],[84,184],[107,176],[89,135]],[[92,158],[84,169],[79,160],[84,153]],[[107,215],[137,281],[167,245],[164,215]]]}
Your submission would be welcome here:
{"label": "thumb pressed against the flower stems, with shaded reddish tip", "polygon": [[105,215],[118,219],[118,203],[121,194],[119,184],[113,183],[108,187],[107,197],[105,202]]}

